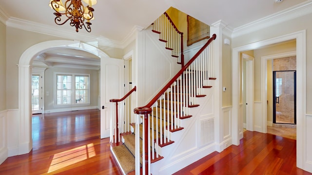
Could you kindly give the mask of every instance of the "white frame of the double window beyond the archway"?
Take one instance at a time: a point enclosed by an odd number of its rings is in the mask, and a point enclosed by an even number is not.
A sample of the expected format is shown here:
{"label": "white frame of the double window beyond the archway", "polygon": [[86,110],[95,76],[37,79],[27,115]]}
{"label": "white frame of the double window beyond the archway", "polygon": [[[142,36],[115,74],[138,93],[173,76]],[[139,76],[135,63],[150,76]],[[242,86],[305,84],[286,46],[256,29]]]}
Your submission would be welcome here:
{"label": "white frame of the double window beyond the archway", "polygon": [[[67,75],[67,76],[71,76],[72,80],[71,80],[71,104],[57,104],[57,100],[58,100],[58,95],[57,95],[57,76],[58,75]],[[86,103],[76,103],[76,76],[87,76],[89,77],[89,83],[88,83],[88,87],[86,90],[88,90],[88,97],[87,97],[87,102]],[[64,73],[64,72],[54,72],[54,106],[55,107],[62,107],[62,106],[79,106],[79,105],[90,105],[90,86],[91,86],[91,75],[90,74],[84,74],[84,73]]]}

